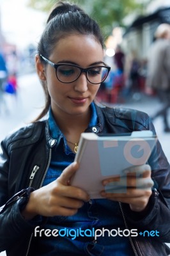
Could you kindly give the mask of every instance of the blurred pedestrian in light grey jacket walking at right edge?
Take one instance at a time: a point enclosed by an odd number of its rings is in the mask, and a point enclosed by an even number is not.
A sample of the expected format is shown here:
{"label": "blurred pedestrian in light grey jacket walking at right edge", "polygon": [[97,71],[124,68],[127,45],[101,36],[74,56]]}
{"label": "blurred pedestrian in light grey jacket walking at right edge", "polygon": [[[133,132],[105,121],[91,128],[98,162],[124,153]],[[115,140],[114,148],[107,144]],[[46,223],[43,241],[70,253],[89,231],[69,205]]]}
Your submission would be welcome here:
{"label": "blurred pedestrian in light grey jacket walking at right edge", "polygon": [[170,25],[160,24],[155,32],[155,42],[148,56],[148,77],[146,86],[155,90],[163,107],[152,116],[162,116],[164,131],[170,132],[168,110],[170,107]]}

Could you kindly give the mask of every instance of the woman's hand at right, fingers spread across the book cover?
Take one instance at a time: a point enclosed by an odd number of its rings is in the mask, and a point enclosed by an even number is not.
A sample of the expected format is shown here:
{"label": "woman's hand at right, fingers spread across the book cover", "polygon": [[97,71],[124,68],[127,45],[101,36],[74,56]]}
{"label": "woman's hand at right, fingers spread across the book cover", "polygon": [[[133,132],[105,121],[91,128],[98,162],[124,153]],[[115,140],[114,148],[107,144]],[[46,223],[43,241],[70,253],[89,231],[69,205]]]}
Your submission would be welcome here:
{"label": "woman's hand at right, fingers spread across the book cover", "polygon": [[[143,211],[150,199],[153,180],[151,179],[151,168],[148,164],[134,166],[125,170],[126,177],[112,177],[103,180],[103,185],[111,186],[111,193],[102,191],[101,195],[107,199],[119,201],[130,205],[132,211]],[[121,183],[123,190],[114,190],[115,183]],[[122,188],[122,187],[121,187]]]}

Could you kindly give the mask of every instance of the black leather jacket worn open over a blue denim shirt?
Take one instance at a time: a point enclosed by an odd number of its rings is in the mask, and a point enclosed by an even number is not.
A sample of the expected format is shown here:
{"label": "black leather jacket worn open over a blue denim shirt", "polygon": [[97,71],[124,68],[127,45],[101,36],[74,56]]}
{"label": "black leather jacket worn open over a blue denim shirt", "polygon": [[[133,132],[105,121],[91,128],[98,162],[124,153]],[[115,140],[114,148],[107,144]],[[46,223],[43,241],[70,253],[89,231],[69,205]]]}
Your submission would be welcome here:
{"label": "black leather jacket worn open over a blue denim shirt", "polygon": [[[141,111],[97,106],[97,113],[100,122],[86,132],[125,133],[150,129],[155,133],[150,118]],[[49,134],[48,121],[24,127],[2,141],[0,205],[6,204],[9,198],[21,189],[38,189],[42,186],[54,143]],[[132,212],[127,204],[120,204],[120,207],[128,228],[160,232],[159,237],[130,237],[134,255],[163,256],[170,253],[164,244],[170,243],[170,167],[159,142],[148,163],[151,166],[155,188],[146,211]],[[31,173],[34,173],[33,177]],[[36,255],[33,248],[34,239],[31,241],[30,237],[37,222],[35,225],[35,220],[26,221],[20,214],[29,193],[30,191],[19,193],[1,208],[0,252],[6,250],[10,256]]]}

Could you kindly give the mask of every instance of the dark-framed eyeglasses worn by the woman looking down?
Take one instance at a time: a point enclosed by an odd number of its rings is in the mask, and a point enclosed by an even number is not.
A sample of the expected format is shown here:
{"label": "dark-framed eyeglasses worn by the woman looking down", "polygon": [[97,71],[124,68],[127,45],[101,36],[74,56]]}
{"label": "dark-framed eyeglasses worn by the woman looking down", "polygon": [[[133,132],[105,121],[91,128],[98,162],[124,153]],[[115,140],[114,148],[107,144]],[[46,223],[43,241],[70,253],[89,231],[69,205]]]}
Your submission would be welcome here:
{"label": "dark-framed eyeglasses worn by the woman looking down", "polygon": [[86,78],[91,84],[100,84],[107,78],[111,67],[108,67],[104,62],[102,66],[94,66],[88,68],[81,68],[73,64],[55,64],[47,60],[42,54],[39,53],[41,58],[49,63],[56,70],[56,77],[61,83],[72,83],[76,81],[83,72],[86,73]]}

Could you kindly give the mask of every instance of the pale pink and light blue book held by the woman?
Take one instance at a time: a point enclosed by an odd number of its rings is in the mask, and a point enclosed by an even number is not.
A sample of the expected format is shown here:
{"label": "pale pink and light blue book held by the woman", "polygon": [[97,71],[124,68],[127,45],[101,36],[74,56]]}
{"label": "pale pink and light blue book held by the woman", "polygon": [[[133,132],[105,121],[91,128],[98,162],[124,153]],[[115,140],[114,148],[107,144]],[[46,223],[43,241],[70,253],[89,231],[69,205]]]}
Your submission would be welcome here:
{"label": "pale pink and light blue book held by the woman", "polygon": [[[125,170],[147,163],[156,141],[157,136],[151,131],[100,136],[83,132],[75,155],[79,170],[73,175],[70,184],[87,191],[91,199],[102,198],[100,192],[103,190],[125,193]],[[102,185],[102,180],[115,175],[120,180],[105,187]]]}

